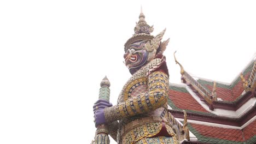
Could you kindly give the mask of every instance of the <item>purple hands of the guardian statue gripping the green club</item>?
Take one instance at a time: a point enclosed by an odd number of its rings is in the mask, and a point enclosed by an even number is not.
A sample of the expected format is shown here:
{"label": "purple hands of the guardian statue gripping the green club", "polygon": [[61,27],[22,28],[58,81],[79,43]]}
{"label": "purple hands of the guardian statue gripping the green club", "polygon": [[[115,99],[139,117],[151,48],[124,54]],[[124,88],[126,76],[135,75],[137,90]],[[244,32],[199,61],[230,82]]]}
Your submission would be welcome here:
{"label": "purple hands of the guardian statue gripping the green club", "polygon": [[112,104],[109,103],[109,101],[104,99],[99,99],[94,104],[94,122],[95,127],[97,127],[100,124],[106,124],[106,119],[104,115],[104,109],[105,107],[111,107]]}

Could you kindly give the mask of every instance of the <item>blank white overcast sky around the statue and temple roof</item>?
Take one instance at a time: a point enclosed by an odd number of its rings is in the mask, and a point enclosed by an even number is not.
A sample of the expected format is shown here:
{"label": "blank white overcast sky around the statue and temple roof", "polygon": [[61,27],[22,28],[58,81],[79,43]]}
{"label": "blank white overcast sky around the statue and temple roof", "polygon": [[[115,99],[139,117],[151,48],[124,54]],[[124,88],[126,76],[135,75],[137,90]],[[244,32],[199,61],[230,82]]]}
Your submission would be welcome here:
{"label": "blank white overcast sky around the statue and temple roof", "polygon": [[[124,44],[141,4],[190,74],[231,82],[256,52],[256,1],[1,1],[0,143],[90,143],[105,75],[110,101],[130,73]],[[112,143],[115,143],[112,141]]]}

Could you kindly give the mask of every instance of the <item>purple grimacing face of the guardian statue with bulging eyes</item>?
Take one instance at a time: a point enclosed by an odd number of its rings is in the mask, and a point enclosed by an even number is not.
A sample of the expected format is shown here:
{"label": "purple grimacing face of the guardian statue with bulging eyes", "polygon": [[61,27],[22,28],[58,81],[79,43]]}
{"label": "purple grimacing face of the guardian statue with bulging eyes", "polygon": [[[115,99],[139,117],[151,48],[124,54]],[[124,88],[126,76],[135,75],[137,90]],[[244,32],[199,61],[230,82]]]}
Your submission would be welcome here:
{"label": "purple grimacing face of the guardian statue with bulging eyes", "polygon": [[148,51],[144,48],[147,41],[137,41],[129,46],[124,54],[125,65],[130,70],[130,73],[135,73],[143,65],[147,63]]}

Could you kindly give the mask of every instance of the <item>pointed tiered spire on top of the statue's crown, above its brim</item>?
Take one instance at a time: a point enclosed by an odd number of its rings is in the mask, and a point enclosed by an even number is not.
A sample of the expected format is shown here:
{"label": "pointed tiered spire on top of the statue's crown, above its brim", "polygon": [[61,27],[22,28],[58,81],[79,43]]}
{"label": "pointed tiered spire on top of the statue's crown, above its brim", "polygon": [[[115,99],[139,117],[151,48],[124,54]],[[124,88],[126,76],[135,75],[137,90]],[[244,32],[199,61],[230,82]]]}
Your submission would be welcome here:
{"label": "pointed tiered spire on top of the statue's crown, above its brim", "polygon": [[141,13],[139,14],[139,21],[136,22],[134,32],[135,34],[139,34],[139,33],[150,34],[153,32],[153,30],[154,30],[153,26],[149,26],[145,21],[145,15],[143,14],[142,5],[141,5]]}

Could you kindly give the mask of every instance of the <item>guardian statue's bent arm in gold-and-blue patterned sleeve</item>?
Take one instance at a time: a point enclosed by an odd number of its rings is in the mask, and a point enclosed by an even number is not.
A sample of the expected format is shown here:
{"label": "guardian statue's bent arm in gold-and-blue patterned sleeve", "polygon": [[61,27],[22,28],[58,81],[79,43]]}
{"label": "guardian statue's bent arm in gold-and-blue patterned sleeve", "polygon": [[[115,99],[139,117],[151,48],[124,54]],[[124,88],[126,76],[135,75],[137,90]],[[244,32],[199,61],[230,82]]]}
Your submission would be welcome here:
{"label": "guardian statue's bent arm in gold-and-blue patterned sleeve", "polygon": [[168,75],[164,70],[154,71],[148,75],[148,92],[132,97],[119,105],[106,107],[106,122],[148,113],[164,105],[168,97]]}

